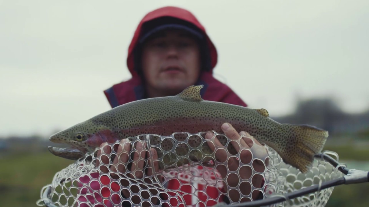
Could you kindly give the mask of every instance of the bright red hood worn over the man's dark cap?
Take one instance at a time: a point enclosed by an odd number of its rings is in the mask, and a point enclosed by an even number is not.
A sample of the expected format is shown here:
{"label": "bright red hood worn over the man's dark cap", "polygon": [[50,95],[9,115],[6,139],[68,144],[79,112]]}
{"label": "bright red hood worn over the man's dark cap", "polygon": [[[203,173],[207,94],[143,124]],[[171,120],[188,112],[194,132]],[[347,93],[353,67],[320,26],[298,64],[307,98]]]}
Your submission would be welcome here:
{"label": "bright red hood worn over the man's dark cap", "polygon": [[193,25],[195,25],[197,28],[199,28],[201,31],[203,31],[204,35],[206,36],[207,45],[208,45],[208,49],[210,52],[211,71],[212,71],[215,65],[217,64],[218,54],[217,54],[217,50],[215,49],[213,42],[211,42],[210,38],[206,34],[206,31],[203,25],[200,24],[200,22],[196,19],[196,17],[192,13],[190,13],[190,11],[187,11],[183,8],[178,8],[178,7],[162,7],[162,8],[158,8],[146,14],[145,17],[142,18],[141,22],[139,22],[137,26],[137,29],[132,38],[130,47],[128,48],[128,57],[127,57],[127,66],[128,66],[130,73],[132,74],[132,77],[138,76],[137,72],[134,70],[134,57],[133,56],[134,56],[134,49],[137,46],[139,35],[142,30],[142,25],[145,22],[148,22],[156,18],[160,18],[160,17],[174,17],[174,18],[178,18],[184,21],[188,21],[192,23]]}

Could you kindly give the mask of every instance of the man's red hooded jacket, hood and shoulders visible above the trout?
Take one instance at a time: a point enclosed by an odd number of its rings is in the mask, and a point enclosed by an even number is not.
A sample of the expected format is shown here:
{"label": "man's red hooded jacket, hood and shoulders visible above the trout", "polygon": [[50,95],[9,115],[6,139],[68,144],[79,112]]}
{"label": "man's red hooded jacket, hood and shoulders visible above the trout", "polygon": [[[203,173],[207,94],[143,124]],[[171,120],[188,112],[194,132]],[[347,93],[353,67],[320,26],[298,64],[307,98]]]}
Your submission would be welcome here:
{"label": "man's red hooded jacket, hood and shoulders visible above the trout", "polygon": [[140,32],[142,30],[142,24],[147,21],[154,20],[159,17],[174,17],[184,21],[191,22],[205,35],[207,39],[208,51],[210,52],[211,58],[211,70],[203,71],[200,75],[199,81],[196,84],[203,84],[204,88],[201,90],[201,97],[207,101],[217,101],[223,103],[231,103],[240,106],[247,106],[245,102],[239,98],[235,92],[233,92],[227,85],[221,83],[213,77],[213,69],[217,64],[217,50],[213,42],[207,36],[205,28],[196,17],[187,10],[178,7],[162,7],[157,10],[151,11],[146,14],[145,17],[138,24],[138,27],[134,33],[131,44],[128,48],[127,66],[128,70],[132,74],[132,78],[128,81],[124,81],[113,85],[104,91],[106,98],[108,99],[112,108],[128,103],[143,99],[143,86],[141,78],[134,70],[134,49],[137,46]]}

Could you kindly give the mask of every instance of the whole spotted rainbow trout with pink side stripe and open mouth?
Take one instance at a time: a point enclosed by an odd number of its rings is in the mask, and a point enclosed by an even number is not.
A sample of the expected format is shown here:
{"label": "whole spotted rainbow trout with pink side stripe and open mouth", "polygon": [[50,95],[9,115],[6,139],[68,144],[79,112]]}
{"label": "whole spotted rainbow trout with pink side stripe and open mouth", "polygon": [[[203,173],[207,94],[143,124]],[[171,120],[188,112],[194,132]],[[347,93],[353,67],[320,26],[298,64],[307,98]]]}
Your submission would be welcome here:
{"label": "whole spotted rainbow trout with pink side stripe and open mouth", "polygon": [[[314,155],[323,149],[328,131],[308,125],[280,124],[270,119],[265,109],[204,101],[200,96],[201,88],[203,85],[190,86],[176,96],[148,98],[117,106],[52,135],[52,142],[66,143],[72,148],[49,147],[49,151],[59,157],[78,159],[104,142],[114,143],[141,134],[169,136],[175,132],[211,130],[222,133],[221,124],[225,122],[232,124],[238,132],[247,131],[260,143],[272,147],[284,162],[303,173],[312,166]],[[161,140],[149,141],[155,143]],[[162,149],[170,150],[173,145],[165,141],[161,144]],[[191,145],[192,141],[201,142],[189,139],[188,144]],[[227,143],[225,137],[220,141]],[[228,150],[234,150],[232,145],[228,145]],[[183,155],[188,153],[182,151]],[[204,144],[201,151],[193,153],[198,154],[190,154],[192,157],[203,157],[203,154],[208,155],[212,151]]]}

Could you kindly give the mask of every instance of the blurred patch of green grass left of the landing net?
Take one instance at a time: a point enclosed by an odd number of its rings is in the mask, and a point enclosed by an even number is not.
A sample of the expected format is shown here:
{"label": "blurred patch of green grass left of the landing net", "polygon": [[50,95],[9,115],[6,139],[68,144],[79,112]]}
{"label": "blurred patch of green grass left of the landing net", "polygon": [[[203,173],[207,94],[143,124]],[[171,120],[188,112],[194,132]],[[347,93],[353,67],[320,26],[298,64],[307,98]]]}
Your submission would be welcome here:
{"label": "blurred patch of green grass left of the landing net", "polygon": [[43,186],[72,161],[50,152],[13,154],[0,158],[0,206],[37,206]]}

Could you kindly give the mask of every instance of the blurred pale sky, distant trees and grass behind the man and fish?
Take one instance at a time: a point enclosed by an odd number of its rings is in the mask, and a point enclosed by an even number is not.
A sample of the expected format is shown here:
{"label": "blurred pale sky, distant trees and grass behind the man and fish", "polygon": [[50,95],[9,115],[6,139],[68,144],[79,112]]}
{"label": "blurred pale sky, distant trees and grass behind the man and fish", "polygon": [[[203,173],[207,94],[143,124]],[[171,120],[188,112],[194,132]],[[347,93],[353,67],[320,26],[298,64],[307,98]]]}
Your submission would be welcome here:
{"label": "blurred pale sky, distant trees and grass behind the man and fish", "polygon": [[[162,6],[194,13],[218,50],[214,76],[249,108],[330,132],[325,150],[369,170],[369,1],[0,0],[0,201],[36,206],[72,161],[56,131],[110,109],[130,78],[128,45]],[[335,187],[327,206],[368,206],[369,184]]]}

